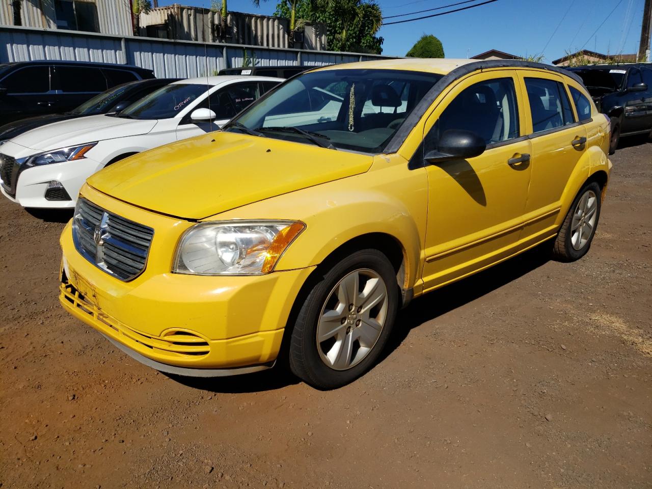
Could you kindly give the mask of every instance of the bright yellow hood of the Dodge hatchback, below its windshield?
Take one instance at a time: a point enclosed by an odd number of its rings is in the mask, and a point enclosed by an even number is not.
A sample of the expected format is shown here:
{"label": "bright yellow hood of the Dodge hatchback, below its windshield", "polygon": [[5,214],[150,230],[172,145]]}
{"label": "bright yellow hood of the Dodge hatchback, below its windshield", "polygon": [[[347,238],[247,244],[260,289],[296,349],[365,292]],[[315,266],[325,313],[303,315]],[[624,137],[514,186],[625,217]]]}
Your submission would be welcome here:
{"label": "bright yellow hood of the Dodge hatchback, below its windshield", "polygon": [[201,219],[364,173],[372,160],[304,143],[213,132],[126,158],[87,183],[138,207]]}

